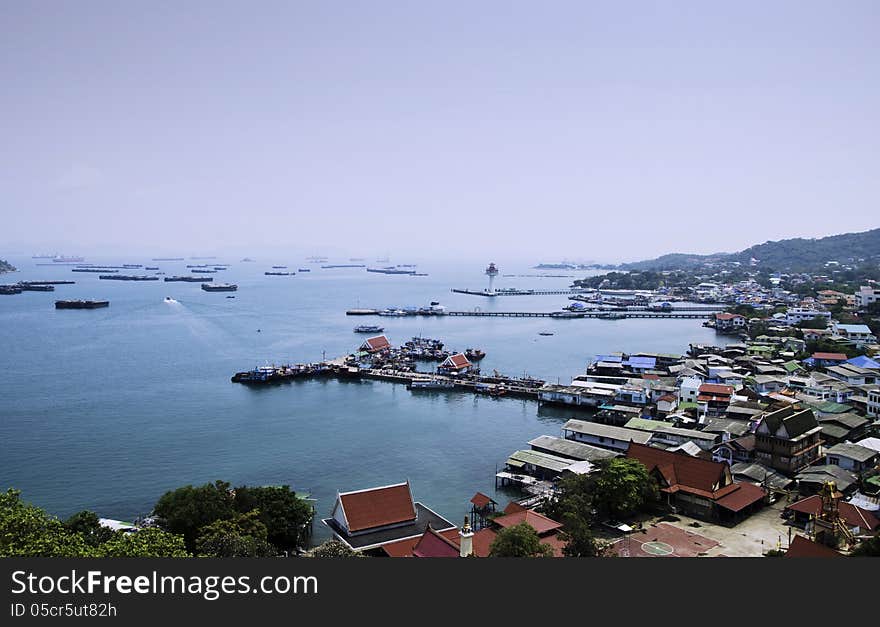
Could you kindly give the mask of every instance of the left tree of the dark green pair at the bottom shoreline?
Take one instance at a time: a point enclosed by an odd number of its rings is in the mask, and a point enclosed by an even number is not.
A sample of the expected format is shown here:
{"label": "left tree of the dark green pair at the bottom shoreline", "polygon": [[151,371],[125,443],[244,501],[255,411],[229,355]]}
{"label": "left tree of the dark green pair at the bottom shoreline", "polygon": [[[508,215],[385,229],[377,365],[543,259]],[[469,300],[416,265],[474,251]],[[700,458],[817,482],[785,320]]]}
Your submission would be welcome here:
{"label": "left tree of the dark green pair at the bottom shoreline", "polygon": [[162,528],[182,535],[187,549],[193,551],[202,527],[232,518],[233,498],[230,485],[223,481],[198,487],[187,485],[163,494],[153,512]]}

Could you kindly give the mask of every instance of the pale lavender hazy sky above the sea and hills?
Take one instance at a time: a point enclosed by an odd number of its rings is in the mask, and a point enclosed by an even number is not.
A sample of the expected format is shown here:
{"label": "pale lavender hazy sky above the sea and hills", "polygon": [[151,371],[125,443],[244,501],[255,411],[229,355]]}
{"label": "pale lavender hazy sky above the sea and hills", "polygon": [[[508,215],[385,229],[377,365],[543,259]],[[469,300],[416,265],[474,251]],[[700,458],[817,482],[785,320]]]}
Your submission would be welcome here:
{"label": "pale lavender hazy sky above the sea and hills", "polygon": [[0,3],[0,257],[880,226],[880,3]]}

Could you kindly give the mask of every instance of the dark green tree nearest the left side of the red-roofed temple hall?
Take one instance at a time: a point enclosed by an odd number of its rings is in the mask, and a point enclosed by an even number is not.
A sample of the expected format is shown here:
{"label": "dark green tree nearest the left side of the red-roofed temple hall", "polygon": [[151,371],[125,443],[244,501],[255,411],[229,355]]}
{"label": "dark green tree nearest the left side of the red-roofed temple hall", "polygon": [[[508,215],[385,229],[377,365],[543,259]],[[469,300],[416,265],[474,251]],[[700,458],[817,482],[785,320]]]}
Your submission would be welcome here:
{"label": "dark green tree nearest the left side of the red-roofed temple hall", "polygon": [[290,486],[241,486],[235,489],[236,511],[259,510],[268,541],[280,549],[296,549],[312,522],[312,506],[296,496]]}

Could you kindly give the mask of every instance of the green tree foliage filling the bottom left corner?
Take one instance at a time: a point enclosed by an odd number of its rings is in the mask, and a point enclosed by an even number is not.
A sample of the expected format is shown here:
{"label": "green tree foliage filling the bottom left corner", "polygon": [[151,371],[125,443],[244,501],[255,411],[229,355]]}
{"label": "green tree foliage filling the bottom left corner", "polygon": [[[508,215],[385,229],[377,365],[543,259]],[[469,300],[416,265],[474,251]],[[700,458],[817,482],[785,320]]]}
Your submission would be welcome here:
{"label": "green tree foliage filling the bottom left corner", "polygon": [[88,557],[82,536],[39,507],[21,500],[19,490],[0,495],[0,557]]}

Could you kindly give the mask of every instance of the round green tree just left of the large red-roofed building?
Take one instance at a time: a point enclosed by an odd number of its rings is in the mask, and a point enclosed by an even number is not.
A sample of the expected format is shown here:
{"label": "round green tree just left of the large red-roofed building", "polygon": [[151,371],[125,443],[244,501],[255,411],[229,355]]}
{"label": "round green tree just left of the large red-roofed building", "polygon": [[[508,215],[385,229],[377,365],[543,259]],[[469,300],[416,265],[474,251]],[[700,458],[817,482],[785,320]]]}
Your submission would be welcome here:
{"label": "round green tree just left of the large red-roofed building", "polygon": [[598,466],[593,502],[605,514],[628,516],[657,500],[657,482],[637,459],[602,460]]}

